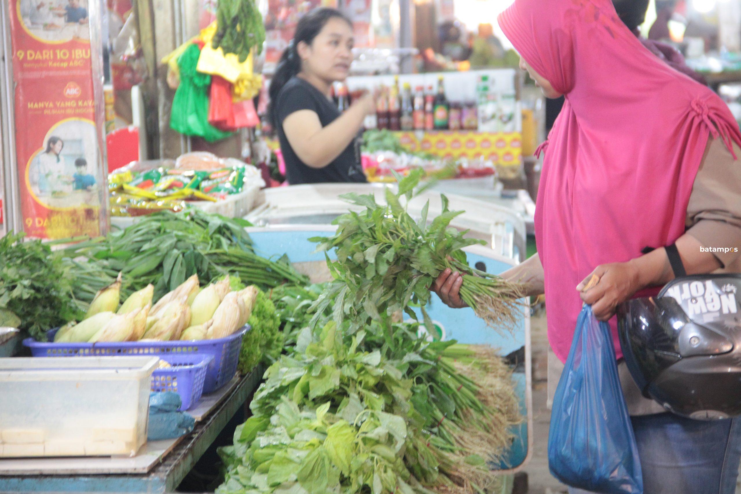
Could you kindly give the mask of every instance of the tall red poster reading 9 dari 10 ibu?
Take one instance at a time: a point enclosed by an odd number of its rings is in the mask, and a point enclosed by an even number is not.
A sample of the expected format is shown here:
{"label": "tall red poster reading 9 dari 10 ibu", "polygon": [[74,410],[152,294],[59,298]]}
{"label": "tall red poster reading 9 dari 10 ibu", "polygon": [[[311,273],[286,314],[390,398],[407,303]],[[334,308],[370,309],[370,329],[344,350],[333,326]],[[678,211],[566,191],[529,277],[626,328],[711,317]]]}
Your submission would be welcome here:
{"label": "tall red poster reading 9 dari 10 ibu", "polygon": [[97,236],[106,187],[84,0],[10,1],[24,230]]}

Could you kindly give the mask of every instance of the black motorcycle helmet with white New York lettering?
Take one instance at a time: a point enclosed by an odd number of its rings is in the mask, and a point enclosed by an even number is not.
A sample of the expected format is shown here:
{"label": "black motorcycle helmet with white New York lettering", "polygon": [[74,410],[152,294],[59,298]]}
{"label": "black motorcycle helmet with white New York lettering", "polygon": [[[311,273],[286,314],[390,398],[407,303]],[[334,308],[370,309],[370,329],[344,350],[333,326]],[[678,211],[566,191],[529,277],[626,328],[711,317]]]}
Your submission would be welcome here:
{"label": "black motorcycle helmet with white New York lettering", "polygon": [[617,307],[625,364],[668,411],[741,415],[741,274],[682,276]]}

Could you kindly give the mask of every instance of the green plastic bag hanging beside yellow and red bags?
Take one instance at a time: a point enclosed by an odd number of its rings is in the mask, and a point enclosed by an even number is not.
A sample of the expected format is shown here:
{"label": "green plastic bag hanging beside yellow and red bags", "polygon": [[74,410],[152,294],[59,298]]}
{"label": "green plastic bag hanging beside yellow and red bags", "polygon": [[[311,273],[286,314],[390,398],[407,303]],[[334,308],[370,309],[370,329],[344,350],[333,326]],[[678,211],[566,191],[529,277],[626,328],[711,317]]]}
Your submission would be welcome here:
{"label": "green plastic bag hanging beside yellow and red bags", "polygon": [[170,127],[186,136],[199,136],[214,142],[232,134],[208,123],[208,90],[211,76],[196,70],[201,49],[191,44],[178,59],[180,85],[173,98]]}

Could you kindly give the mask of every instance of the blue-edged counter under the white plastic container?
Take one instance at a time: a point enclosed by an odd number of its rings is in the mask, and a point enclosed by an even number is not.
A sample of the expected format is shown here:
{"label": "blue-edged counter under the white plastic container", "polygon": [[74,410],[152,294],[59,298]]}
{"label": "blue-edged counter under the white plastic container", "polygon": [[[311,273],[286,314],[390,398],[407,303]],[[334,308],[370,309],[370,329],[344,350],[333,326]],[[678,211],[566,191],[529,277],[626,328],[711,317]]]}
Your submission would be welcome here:
{"label": "blue-edged counter under the white plastic container", "polygon": [[213,444],[258,387],[263,368],[237,376],[205,395],[190,415],[193,432],[176,439],[149,441],[133,458],[0,459],[0,491],[170,493]]}

